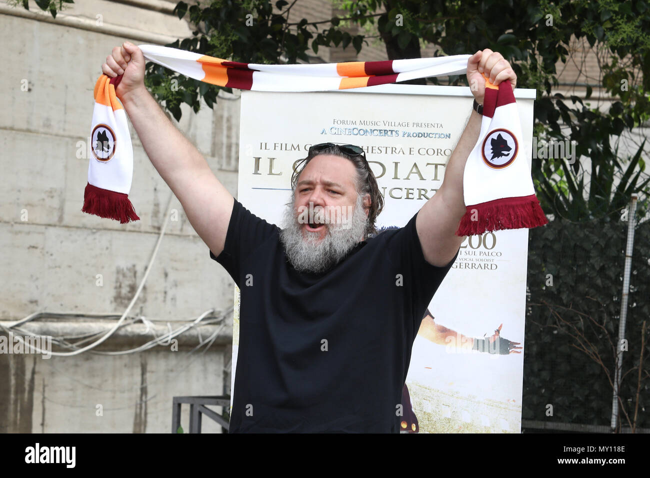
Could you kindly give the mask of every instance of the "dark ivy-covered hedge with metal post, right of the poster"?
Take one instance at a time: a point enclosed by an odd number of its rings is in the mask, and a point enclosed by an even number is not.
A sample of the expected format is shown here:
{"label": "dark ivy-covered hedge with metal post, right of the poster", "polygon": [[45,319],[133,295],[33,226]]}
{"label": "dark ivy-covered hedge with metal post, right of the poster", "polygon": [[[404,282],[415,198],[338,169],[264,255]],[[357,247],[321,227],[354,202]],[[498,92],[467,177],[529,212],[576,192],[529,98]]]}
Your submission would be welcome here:
{"label": "dark ivy-covered hedge with metal post, right of the poster", "polygon": [[[612,412],[628,222],[556,219],[529,231],[524,419],[608,425]],[[637,427],[649,427],[650,222],[638,224],[623,352],[622,408],[633,421],[642,322],[647,321]],[[552,274],[552,285],[547,285]],[[553,416],[546,416],[547,404]],[[619,423],[629,425],[623,412]]]}

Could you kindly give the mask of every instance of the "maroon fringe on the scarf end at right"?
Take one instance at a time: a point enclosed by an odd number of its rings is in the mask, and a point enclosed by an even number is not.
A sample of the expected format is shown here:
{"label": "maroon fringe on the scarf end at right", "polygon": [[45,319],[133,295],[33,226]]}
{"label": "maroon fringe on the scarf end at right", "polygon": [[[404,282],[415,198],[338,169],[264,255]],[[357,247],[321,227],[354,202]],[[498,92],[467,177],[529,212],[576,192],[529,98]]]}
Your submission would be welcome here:
{"label": "maroon fringe on the scarf end at right", "polygon": [[459,237],[504,229],[530,229],[549,222],[535,194],[495,199],[466,207],[467,211],[456,230]]}

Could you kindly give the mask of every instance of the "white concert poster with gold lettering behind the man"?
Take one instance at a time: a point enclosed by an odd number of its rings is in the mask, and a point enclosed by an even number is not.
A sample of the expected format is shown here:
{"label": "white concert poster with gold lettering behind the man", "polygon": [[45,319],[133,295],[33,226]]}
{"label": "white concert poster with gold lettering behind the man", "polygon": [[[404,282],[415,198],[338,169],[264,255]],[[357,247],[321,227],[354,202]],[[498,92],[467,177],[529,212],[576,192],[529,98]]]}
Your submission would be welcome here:
{"label": "white concert poster with gold lettering behind the man", "polygon": [[[530,165],[535,90],[515,90],[515,98],[523,133],[520,154]],[[243,91],[237,199],[253,214],[281,224],[283,207],[291,200],[293,168],[309,146],[356,144],[365,150],[385,201],[378,229],[402,227],[441,186],[472,102],[469,88],[461,86]],[[405,432],[521,431],[523,349],[504,355],[473,351],[467,341],[463,347],[445,331],[482,339],[502,325],[500,336],[523,347],[527,254],[525,229],[469,237],[461,245],[430,303],[431,315],[423,320],[426,330],[421,328],[413,343]],[[237,287],[234,319],[233,394]]]}

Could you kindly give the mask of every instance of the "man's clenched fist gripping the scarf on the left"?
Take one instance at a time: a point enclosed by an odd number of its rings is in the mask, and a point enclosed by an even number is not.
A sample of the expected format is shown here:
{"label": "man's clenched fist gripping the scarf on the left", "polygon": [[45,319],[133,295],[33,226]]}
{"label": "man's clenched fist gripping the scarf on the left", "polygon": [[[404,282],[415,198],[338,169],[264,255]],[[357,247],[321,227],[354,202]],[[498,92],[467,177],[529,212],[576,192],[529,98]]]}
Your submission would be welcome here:
{"label": "man's clenched fist gripping the scarf on the left", "polygon": [[122,81],[115,88],[115,94],[123,100],[125,96],[134,92],[146,91],[144,64],[142,50],[131,42],[124,42],[121,47],[113,48],[112,53],[106,57],[106,62],[101,66],[101,71],[111,78],[122,75]]}

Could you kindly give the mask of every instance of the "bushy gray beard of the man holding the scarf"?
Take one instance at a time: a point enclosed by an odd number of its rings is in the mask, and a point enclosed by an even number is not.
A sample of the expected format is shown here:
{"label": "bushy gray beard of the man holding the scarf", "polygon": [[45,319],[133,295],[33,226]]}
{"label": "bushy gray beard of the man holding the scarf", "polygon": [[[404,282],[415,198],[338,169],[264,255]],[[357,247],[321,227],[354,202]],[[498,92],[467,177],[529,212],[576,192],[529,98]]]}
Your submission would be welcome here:
{"label": "bushy gray beard of the man holding the scarf", "polygon": [[320,231],[305,230],[303,236],[302,224],[298,222],[293,205],[289,204],[283,213],[280,240],[296,271],[319,274],[339,263],[359,243],[367,224],[368,217],[358,194],[352,217],[347,218],[346,224],[325,224],[328,231],[318,242]]}

